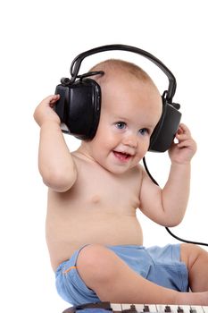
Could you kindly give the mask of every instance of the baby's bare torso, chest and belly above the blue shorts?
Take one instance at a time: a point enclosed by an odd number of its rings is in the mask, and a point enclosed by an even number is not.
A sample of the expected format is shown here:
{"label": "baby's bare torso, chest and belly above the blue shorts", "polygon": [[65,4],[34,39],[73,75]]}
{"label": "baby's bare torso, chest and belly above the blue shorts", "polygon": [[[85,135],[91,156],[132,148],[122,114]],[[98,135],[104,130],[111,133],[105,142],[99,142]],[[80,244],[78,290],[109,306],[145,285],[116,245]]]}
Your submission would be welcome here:
{"label": "baby's bare torso, chest and belly above the blue shorts", "polygon": [[74,154],[78,178],[71,190],[48,191],[46,240],[54,269],[87,243],[142,244],[137,222],[141,169],[114,175]]}

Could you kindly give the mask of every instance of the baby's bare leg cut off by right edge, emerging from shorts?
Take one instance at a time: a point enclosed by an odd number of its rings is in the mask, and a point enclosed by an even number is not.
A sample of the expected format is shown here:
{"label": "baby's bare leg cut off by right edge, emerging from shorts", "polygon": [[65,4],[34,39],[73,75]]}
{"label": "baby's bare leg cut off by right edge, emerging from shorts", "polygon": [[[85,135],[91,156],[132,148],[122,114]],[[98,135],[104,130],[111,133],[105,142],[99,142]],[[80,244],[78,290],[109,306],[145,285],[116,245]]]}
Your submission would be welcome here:
{"label": "baby's bare leg cut off by right edge, emerging from shorts", "polygon": [[192,292],[208,291],[208,252],[195,244],[181,244],[181,260],[186,263]]}

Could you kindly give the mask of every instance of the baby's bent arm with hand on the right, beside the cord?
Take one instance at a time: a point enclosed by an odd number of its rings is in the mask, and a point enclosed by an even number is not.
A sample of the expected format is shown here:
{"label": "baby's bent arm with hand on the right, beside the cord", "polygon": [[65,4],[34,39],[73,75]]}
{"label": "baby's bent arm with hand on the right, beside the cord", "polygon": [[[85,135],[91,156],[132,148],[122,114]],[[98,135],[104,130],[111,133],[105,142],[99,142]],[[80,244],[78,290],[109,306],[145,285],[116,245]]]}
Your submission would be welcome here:
{"label": "baby's bent arm with hand on the right, beside the cord", "polygon": [[196,153],[196,142],[187,126],[181,124],[176,134],[179,143],[169,150],[171,171],[163,189],[144,172],[140,201],[141,210],[154,222],[174,226],[181,222],[187,208],[190,188],[190,162]]}

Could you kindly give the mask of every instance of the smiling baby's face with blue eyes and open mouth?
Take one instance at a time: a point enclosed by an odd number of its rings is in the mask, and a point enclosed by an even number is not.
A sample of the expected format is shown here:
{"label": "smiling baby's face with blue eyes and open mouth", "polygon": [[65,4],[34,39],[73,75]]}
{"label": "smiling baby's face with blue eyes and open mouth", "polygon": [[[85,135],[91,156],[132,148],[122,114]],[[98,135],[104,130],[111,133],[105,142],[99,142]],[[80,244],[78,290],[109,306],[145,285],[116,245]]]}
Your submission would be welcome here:
{"label": "smiling baby's face with blue eyes and open mouth", "polygon": [[117,75],[101,88],[100,122],[87,151],[108,171],[124,173],[145,156],[162,114],[162,98],[152,83],[133,76]]}

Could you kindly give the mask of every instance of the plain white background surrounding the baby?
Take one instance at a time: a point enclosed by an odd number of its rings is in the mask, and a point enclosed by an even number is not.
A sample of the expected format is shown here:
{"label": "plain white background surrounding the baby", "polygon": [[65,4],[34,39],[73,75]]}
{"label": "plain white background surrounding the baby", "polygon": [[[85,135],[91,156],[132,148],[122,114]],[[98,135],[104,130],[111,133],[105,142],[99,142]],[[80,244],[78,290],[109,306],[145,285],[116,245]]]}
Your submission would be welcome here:
{"label": "plain white background surrounding the baby", "polygon": [[[72,59],[92,47],[121,43],[143,48],[162,60],[178,82],[175,96],[198,145],[193,159],[191,196],[184,221],[174,233],[195,241],[207,236],[207,9],[206,1],[50,0],[4,1],[1,32],[1,218],[0,311],[58,313],[69,307],[57,295],[45,242],[46,187],[37,172],[37,104]],[[102,59],[108,55],[100,55]],[[118,52],[112,57],[120,57]],[[149,62],[127,54],[149,69]],[[91,56],[83,72],[96,63]],[[163,91],[167,81],[151,70]],[[79,142],[67,137],[71,149]],[[162,184],[167,154],[148,154],[151,173]],[[176,242],[144,216],[145,244]]]}

